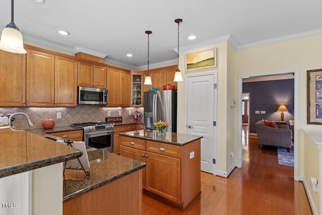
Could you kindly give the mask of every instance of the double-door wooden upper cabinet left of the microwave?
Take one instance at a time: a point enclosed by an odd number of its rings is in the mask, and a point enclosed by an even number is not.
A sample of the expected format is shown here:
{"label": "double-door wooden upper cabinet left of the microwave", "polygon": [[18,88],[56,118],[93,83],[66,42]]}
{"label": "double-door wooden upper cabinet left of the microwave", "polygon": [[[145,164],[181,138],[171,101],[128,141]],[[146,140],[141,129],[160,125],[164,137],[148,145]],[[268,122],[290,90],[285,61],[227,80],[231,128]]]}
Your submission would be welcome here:
{"label": "double-door wooden upper cabinet left of the microwave", "polygon": [[28,49],[26,77],[27,106],[77,105],[77,60]]}

